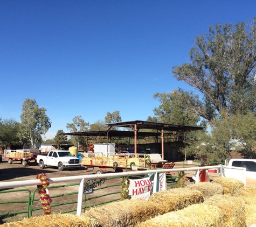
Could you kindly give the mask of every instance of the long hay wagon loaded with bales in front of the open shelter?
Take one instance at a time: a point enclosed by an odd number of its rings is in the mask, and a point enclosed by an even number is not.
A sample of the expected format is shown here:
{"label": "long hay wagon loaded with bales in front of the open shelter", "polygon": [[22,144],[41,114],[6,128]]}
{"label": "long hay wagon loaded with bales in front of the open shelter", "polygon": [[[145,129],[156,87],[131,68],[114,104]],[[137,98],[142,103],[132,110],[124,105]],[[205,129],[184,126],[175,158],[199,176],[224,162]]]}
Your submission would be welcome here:
{"label": "long hay wagon loaded with bales in front of the open shelter", "polygon": [[107,168],[122,172],[123,169],[145,170],[150,168],[150,154],[130,153],[81,153],[81,166],[98,167],[96,174],[102,174]]}

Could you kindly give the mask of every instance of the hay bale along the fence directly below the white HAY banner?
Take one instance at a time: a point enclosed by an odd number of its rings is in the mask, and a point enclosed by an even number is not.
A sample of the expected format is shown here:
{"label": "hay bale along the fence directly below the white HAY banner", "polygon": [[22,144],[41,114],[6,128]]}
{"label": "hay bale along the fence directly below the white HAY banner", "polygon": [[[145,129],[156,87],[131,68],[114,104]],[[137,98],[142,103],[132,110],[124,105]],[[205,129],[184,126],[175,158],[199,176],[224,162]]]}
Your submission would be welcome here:
{"label": "hay bale along the fence directly below the white HAY banner", "polygon": [[85,211],[83,216],[95,219],[101,227],[136,225],[158,215],[160,204],[141,200],[123,200]]}

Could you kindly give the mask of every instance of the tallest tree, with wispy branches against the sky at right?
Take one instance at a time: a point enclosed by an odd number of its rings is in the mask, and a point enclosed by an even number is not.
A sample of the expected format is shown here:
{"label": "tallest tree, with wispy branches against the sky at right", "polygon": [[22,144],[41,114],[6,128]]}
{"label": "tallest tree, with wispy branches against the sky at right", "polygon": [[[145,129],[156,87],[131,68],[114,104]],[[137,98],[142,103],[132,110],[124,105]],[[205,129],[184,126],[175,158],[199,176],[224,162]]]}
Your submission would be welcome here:
{"label": "tallest tree, with wispy branches against the sky at right", "polygon": [[[220,112],[255,110],[256,19],[217,24],[197,36],[189,52],[190,63],[172,68],[177,80],[197,91],[179,89],[189,111],[211,122]],[[198,94],[200,96],[198,96]],[[200,98],[199,98],[200,97]]]}

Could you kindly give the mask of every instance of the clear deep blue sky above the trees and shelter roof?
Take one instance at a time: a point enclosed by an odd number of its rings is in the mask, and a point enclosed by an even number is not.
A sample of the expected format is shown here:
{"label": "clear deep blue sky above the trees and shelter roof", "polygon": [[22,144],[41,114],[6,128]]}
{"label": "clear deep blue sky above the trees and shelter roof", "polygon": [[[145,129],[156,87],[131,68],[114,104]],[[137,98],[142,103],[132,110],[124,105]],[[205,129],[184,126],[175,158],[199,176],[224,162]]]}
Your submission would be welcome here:
{"label": "clear deep blue sky above the trees and shelter roof", "polygon": [[191,90],[171,68],[189,61],[195,37],[255,9],[255,0],[0,0],[0,117],[20,122],[33,98],[52,121],[45,139],[78,115],[146,120],[155,93]]}

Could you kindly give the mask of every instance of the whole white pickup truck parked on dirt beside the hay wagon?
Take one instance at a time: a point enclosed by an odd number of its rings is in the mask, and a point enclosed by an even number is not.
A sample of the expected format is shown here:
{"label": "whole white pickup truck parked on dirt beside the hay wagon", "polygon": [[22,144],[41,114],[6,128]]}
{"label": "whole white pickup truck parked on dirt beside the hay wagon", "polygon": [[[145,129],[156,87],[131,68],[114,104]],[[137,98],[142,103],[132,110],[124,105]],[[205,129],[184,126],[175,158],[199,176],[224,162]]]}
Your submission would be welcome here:
{"label": "whole white pickup truck parked on dirt beside the hay wagon", "polygon": [[59,171],[63,169],[79,168],[80,160],[69,151],[50,151],[37,155],[37,163],[41,169],[46,166],[57,166]]}

